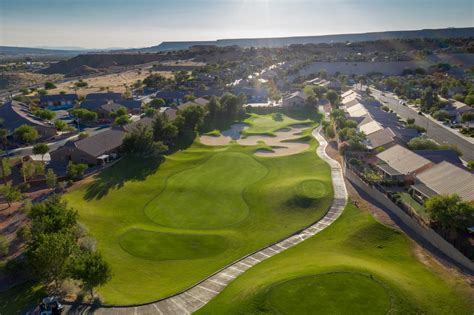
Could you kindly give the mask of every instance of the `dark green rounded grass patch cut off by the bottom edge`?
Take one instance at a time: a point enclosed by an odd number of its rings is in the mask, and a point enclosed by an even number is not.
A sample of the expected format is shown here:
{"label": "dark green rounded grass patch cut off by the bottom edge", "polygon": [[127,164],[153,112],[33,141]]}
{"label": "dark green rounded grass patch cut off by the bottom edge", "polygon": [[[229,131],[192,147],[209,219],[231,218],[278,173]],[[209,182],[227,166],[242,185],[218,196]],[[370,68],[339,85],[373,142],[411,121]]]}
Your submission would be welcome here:
{"label": "dark green rounded grass patch cut off by the bottom edge", "polygon": [[278,314],[386,314],[391,303],[377,280],[346,272],[287,280],[271,287],[263,299]]}

